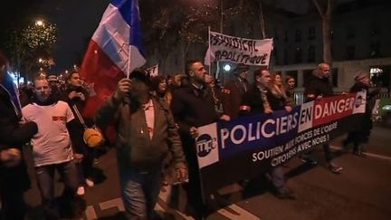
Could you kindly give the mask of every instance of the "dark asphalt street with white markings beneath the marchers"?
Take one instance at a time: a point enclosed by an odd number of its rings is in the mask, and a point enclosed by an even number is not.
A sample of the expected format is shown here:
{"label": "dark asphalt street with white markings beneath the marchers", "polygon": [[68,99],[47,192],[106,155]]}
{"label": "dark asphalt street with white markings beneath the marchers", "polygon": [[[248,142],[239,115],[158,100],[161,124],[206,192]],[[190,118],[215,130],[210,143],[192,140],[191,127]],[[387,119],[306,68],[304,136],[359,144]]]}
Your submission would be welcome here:
{"label": "dark asphalt street with white markings beneath the marchers", "polygon": [[[299,158],[292,158],[284,167],[288,186],[295,199],[281,200],[271,193],[264,177],[254,179],[245,190],[239,185],[220,190],[220,207],[206,219],[300,219],[300,220],[386,220],[391,217],[391,141],[389,129],[376,126],[367,145],[367,157],[360,158],[341,150],[341,139],[333,144],[336,161],[344,167],[333,174],[325,167],[323,151],[316,150],[319,165],[303,166]],[[100,158],[96,165],[105,179],[95,187],[88,187],[84,198],[87,209],[83,219],[121,219],[123,210],[119,198],[119,182],[114,149]],[[31,170],[32,171],[32,170]],[[33,173],[31,173],[33,177]],[[33,180],[33,189],[26,194],[33,211],[29,219],[42,219],[40,196]],[[213,181],[213,179],[211,180]],[[60,193],[58,188],[57,194]],[[182,196],[181,196],[182,195]],[[164,219],[192,219],[177,210],[184,208],[185,192],[176,189],[176,196],[168,206],[167,192],[161,192],[156,207]],[[177,201],[179,200],[179,201]]]}

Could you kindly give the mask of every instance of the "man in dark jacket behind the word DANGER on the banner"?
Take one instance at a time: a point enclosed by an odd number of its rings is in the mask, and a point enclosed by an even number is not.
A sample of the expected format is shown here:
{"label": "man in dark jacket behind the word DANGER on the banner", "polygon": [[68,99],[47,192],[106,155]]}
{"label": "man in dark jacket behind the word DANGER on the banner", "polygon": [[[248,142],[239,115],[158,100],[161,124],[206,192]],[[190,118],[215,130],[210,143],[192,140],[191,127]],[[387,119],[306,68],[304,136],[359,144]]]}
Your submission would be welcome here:
{"label": "man in dark jacket behind the word DANGER on the banner", "polygon": [[[310,80],[306,81],[304,85],[304,96],[306,101],[321,99],[329,97],[334,94],[332,85],[329,81],[330,67],[328,63],[319,63],[318,67],[312,72]],[[328,162],[329,170],[333,173],[339,173],[342,167],[339,167],[333,162],[329,143],[323,145],[326,161]],[[300,156],[302,162],[316,165],[318,162],[310,157],[310,152]]]}

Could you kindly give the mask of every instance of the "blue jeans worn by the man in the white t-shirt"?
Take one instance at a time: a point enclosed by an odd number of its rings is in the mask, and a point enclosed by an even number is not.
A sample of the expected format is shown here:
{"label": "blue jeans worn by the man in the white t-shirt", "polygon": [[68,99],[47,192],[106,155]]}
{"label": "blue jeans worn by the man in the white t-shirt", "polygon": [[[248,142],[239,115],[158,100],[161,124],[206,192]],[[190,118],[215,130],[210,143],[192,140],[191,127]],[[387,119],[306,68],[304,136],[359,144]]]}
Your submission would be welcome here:
{"label": "blue jeans worn by the man in the white t-shirt", "polygon": [[51,215],[58,215],[59,206],[54,202],[54,171],[57,169],[64,183],[62,196],[71,200],[79,185],[78,171],[73,160],[61,164],[35,167],[38,188],[42,196],[43,209]]}

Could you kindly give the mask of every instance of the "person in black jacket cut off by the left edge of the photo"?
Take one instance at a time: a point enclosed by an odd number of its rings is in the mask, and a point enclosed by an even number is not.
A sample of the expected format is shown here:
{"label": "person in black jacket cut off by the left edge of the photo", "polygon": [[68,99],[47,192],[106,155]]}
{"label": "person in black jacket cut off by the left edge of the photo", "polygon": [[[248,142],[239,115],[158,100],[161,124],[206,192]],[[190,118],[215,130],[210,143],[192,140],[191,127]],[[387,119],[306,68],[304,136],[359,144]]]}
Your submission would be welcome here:
{"label": "person in black jacket cut off by the left edge of the photo", "polygon": [[21,107],[14,82],[6,73],[7,60],[0,53],[0,196],[1,219],[24,219],[27,206],[24,191],[30,179],[24,164],[22,146],[38,131],[34,122],[20,124]]}

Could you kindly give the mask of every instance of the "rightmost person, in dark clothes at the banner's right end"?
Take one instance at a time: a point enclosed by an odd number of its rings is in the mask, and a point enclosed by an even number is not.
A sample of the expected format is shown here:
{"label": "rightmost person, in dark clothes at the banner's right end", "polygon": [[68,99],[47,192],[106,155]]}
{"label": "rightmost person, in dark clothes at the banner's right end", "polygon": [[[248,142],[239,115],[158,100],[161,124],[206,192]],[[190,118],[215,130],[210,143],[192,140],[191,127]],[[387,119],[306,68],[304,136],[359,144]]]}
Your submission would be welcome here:
{"label": "rightmost person, in dark clothes at the banner's right end", "polygon": [[354,78],[355,83],[350,88],[350,92],[366,91],[366,112],[364,114],[363,121],[360,128],[357,130],[350,131],[348,133],[348,138],[343,141],[343,145],[346,148],[350,142],[353,142],[353,153],[360,157],[365,157],[363,154],[363,144],[367,143],[371,129],[373,127],[371,115],[373,107],[370,106],[371,100],[375,98],[379,90],[369,91],[370,78],[368,72],[356,72]]}

